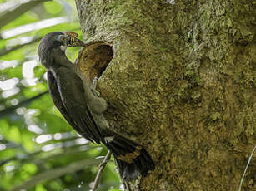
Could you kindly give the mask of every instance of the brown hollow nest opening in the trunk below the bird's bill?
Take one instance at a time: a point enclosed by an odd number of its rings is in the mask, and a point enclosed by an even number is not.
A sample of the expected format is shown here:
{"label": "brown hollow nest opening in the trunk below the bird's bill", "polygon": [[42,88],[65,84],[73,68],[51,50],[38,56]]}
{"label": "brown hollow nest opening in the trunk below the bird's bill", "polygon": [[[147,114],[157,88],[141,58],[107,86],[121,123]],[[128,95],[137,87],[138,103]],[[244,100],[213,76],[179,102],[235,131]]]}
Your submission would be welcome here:
{"label": "brown hollow nest opening in the trunk below the bird's bill", "polygon": [[92,82],[94,77],[102,75],[112,59],[112,46],[106,42],[91,42],[79,52],[77,64]]}

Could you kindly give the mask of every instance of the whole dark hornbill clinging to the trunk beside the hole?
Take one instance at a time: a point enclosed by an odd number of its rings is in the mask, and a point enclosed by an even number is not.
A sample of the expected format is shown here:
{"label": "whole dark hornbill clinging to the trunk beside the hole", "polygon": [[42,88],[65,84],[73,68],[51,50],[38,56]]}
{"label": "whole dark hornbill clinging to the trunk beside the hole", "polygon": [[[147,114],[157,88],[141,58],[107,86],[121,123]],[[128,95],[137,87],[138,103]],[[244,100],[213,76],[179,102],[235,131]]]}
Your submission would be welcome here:
{"label": "whole dark hornbill clinging to the trunk beside the hole", "polygon": [[124,181],[137,179],[139,174],[147,175],[148,170],[154,169],[153,159],[142,145],[109,129],[103,116],[106,100],[97,96],[87,77],[65,55],[67,47],[84,46],[73,32],[51,32],[41,40],[38,56],[47,69],[53,103],[78,134],[106,145]]}

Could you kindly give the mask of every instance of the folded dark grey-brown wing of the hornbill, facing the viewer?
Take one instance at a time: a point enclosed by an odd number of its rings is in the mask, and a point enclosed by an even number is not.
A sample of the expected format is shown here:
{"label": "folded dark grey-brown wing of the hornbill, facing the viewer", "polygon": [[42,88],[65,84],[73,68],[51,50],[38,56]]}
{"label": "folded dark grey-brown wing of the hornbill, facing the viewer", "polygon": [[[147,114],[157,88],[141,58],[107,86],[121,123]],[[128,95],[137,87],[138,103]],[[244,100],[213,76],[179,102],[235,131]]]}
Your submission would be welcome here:
{"label": "folded dark grey-brown wing of the hornbill, facing the viewer", "polygon": [[75,130],[78,127],[78,132],[85,138],[99,143],[101,133],[88,110],[83,81],[66,67],[60,67],[55,72],[58,93],[64,108],[64,117],[66,116],[65,118]]}

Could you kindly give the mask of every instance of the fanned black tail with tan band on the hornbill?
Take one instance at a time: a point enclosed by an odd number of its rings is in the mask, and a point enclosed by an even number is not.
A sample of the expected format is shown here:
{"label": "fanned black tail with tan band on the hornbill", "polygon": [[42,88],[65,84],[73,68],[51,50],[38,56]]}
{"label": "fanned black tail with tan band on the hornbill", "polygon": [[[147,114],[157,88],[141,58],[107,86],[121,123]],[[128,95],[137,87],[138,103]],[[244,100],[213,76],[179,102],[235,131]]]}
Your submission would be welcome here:
{"label": "fanned black tail with tan band on the hornbill", "polygon": [[146,149],[133,140],[108,131],[108,136],[105,136],[103,143],[116,159],[119,173],[124,181],[137,179],[139,174],[145,176],[149,170],[154,169],[153,159]]}

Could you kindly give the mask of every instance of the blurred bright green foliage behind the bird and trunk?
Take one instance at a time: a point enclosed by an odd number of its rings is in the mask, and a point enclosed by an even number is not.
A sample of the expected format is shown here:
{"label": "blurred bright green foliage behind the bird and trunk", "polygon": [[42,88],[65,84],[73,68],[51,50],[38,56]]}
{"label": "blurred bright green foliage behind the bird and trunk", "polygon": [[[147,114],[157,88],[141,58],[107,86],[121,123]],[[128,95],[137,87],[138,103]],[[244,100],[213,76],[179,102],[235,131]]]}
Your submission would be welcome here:
{"label": "blurred bright green foliage behind the bird and trunk", "polygon": [[[73,0],[0,0],[1,191],[90,190],[107,153],[79,137],[53,106],[37,49],[54,31],[81,35]],[[79,48],[68,48],[71,61]],[[122,190],[113,159],[98,190]]]}

